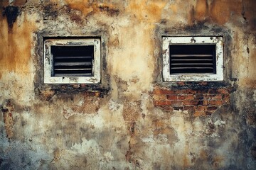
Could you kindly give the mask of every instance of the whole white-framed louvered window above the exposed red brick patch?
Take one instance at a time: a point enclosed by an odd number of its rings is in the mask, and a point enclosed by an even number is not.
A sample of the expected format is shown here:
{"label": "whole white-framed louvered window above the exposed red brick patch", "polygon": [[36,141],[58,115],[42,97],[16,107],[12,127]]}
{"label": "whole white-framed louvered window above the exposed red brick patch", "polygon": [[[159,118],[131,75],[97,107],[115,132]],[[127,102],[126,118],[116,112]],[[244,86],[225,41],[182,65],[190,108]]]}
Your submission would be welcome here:
{"label": "whole white-framed louvered window above the exposed red brick patch", "polygon": [[222,37],[163,37],[164,81],[223,81]]}

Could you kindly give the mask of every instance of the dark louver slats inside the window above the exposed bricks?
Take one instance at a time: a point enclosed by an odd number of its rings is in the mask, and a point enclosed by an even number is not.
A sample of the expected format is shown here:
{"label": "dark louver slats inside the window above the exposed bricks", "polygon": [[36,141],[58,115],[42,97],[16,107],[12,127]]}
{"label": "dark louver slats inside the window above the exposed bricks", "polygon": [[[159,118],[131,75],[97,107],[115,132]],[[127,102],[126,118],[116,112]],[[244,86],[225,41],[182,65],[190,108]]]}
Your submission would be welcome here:
{"label": "dark louver slats inside the window above the exposed bricks", "polygon": [[215,45],[170,45],[170,74],[215,74]]}

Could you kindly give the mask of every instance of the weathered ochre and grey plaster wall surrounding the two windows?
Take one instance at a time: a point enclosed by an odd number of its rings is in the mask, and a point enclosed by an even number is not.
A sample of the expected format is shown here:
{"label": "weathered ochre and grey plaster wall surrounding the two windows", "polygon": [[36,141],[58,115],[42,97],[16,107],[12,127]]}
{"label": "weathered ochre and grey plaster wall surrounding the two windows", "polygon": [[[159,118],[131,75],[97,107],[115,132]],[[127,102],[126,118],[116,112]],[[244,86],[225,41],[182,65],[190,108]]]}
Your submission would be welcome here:
{"label": "weathered ochre and grey plaster wall surrounding the two windows", "polygon": [[[255,0],[0,1],[0,169],[256,169]],[[163,82],[161,36],[223,35],[225,81]],[[43,84],[43,37],[102,83]]]}

